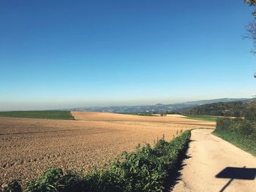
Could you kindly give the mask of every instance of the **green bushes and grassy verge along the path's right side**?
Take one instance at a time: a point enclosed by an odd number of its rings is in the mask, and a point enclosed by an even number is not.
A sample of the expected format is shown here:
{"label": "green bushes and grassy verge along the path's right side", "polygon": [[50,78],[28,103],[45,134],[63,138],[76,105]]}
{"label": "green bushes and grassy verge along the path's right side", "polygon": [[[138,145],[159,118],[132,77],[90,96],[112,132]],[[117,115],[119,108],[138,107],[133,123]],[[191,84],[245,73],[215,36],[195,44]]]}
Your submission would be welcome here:
{"label": "green bushes and grassy verge along the path's right side", "polygon": [[219,118],[214,135],[256,155],[256,121],[242,118]]}

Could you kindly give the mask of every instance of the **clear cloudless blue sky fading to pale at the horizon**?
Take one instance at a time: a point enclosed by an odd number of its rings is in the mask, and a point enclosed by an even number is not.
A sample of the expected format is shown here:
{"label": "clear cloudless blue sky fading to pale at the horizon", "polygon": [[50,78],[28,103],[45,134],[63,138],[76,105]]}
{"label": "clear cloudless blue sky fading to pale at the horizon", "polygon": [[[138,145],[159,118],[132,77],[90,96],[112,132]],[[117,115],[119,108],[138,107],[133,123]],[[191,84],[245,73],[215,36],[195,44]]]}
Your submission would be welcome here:
{"label": "clear cloudless blue sky fading to pale at the horizon", "polygon": [[256,94],[243,0],[0,1],[0,110]]}

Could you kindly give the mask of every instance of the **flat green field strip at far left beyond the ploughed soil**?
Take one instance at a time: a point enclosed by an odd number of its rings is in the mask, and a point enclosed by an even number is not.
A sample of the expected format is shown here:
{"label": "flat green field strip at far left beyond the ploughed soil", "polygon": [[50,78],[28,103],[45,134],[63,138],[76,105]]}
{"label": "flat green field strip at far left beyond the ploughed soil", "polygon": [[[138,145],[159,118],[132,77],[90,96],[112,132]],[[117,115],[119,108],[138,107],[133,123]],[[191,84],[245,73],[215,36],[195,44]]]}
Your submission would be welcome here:
{"label": "flat green field strip at far left beyond the ploughed soil", "polygon": [[73,116],[69,111],[11,111],[0,112],[0,117],[12,118],[38,118],[38,119],[59,119],[73,120]]}

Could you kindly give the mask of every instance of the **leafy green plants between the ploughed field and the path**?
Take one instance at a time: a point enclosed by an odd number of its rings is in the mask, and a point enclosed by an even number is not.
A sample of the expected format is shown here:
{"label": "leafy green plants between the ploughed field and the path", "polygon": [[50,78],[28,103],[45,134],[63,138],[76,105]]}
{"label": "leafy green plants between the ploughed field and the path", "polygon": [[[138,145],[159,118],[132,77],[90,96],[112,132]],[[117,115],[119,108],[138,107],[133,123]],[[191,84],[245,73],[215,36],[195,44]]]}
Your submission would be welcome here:
{"label": "leafy green plants between the ploughed field and the path", "polygon": [[[170,142],[160,139],[154,147],[139,145],[133,153],[122,153],[106,169],[94,169],[87,175],[51,168],[23,191],[164,191],[167,177],[176,174],[175,166],[189,138],[190,131],[184,131]],[[3,188],[14,190],[22,191],[17,181]]]}

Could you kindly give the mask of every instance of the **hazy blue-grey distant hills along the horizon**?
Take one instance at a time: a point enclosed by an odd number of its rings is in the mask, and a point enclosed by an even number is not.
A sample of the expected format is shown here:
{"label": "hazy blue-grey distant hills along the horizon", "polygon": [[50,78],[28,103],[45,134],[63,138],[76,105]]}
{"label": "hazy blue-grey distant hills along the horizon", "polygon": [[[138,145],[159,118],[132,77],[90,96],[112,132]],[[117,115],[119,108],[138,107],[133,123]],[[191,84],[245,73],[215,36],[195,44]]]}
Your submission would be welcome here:
{"label": "hazy blue-grey distant hills along the horizon", "polygon": [[[189,101],[178,104],[154,104],[154,105],[137,105],[137,106],[112,106],[112,107],[80,107],[75,110],[86,110],[94,112],[116,112],[116,113],[175,113],[175,112],[186,112],[193,107],[198,107],[203,104],[212,104],[219,102],[233,102],[241,101],[243,103],[251,101],[253,99],[211,99],[201,101]],[[255,98],[256,100],[256,98]]]}

